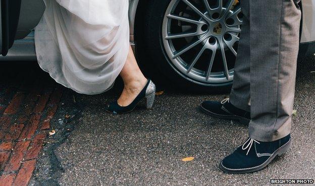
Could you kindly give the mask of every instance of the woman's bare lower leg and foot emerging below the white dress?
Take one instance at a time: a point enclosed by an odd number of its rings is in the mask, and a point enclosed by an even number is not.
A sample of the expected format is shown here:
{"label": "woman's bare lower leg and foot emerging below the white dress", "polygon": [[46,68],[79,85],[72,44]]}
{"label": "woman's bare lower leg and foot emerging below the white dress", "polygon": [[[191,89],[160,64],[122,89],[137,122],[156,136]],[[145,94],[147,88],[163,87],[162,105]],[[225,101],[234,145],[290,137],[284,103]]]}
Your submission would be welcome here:
{"label": "woman's bare lower leg and foot emerging below the white dress", "polygon": [[128,57],[120,72],[120,76],[124,81],[124,89],[118,99],[118,104],[122,107],[126,107],[138,96],[147,82],[147,79],[144,77],[137,64],[131,46],[129,47]]}

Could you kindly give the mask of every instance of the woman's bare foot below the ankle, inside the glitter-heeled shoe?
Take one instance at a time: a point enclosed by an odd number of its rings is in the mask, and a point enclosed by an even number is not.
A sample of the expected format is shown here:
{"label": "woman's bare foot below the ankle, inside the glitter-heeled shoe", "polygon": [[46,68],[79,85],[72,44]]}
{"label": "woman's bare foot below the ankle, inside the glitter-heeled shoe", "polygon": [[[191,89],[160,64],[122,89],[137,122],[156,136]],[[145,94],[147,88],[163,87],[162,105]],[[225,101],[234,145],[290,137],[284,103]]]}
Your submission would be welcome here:
{"label": "woman's bare foot below the ankle, inside the glitter-heeled shoe", "polygon": [[134,99],[139,95],[140,91],[146,85],[147,79],[141,78],[139,80],[134,80],[124,84],[124,89],[120,95],[117,103],[121,107],[126,107],[130,105]]}

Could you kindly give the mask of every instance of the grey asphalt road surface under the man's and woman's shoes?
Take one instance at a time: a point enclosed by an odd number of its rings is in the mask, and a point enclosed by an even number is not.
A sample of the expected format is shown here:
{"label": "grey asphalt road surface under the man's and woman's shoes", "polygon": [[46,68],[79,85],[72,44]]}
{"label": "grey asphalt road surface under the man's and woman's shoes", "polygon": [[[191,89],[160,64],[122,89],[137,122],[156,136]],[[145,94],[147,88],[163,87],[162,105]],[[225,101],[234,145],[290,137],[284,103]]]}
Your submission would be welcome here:
{"label": "grey asphalt road surface under the man's and woman's shoes", "polygon": [[[223,173],[219,163],[246,140],[247,126],[198,110],[202,101],[227,95],[165,90],[156,97],[153,110],[140,106],[126,115],[111,115],[104,106],[116,99],[120,88],[97,96],[65,89],[68,96],[63,97],[59,117],[78,112],[67,124],[54,120],[55,127],[64,126],[57,130],[64,135],[57,134],[53,143],[57,140],[58,145],[44,149],[30,184],[266,185],[270,179],[315,179],[315,73],[311,71],[315,57],[299,59],[291,150],[264,170],[241,175]],[[76,104],[70,104],[73,99]],[[66,126],[71,129],[67,134],[62,132]],[[194,160],[181,160],[188,156]]]}

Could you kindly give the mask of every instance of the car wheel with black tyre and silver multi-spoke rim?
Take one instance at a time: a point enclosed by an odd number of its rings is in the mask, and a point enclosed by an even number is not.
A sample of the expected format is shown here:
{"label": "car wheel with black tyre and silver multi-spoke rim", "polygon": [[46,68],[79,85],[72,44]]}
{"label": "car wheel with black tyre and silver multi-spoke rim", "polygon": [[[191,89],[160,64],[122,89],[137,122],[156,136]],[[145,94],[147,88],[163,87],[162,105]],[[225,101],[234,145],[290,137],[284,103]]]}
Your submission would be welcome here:
{"label": "car wheel with black tyre and silver multi-spoke rim", "polygon": [[191,90],[231,87],[242,24],[237,0],[143,2],[135,40],[145,70]]}

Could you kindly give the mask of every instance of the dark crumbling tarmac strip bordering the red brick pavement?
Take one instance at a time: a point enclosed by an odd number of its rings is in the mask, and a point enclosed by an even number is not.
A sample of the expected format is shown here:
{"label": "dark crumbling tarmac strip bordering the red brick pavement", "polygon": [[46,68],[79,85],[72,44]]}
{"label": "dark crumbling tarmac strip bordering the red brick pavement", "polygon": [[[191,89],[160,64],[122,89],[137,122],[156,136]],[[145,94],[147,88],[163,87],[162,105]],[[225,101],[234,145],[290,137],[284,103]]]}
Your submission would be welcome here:
{"label": "dark crumbling tarmac strip bordering the red brick pavement", "polygon": [[[66,88],[63,89],[58,110],[50,121],[50,130],[54,129],[56,133],[45,139],[29,185],[59,185],[58,179],[64,172],[55,150],[65,142],[74,130],[78,119],[81,117],[80,108],[82,107],[74,103],[75,100],[72,99],[75,98],[75,92]],[[69,116],[69,118],[65,116]]]}

